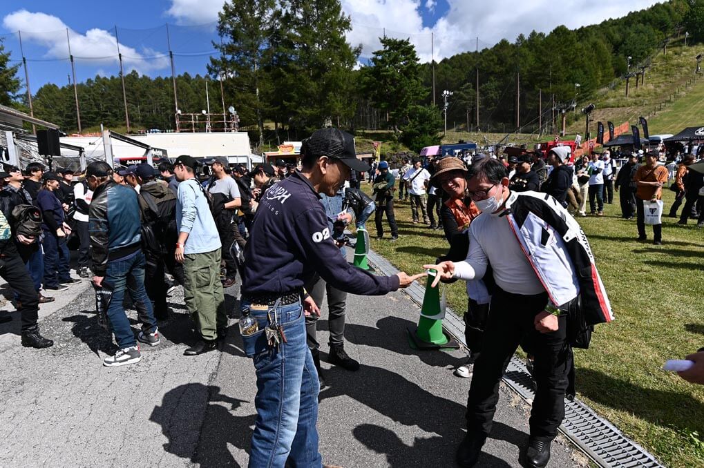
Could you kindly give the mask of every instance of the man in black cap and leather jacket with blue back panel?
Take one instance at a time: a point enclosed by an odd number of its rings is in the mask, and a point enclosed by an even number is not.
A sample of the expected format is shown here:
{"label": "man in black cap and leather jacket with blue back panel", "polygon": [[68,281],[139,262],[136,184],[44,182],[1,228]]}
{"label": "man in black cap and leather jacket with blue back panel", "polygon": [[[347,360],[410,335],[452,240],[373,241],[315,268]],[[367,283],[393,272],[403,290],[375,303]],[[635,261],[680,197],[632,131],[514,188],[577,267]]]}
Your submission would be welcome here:
{"label": "man in black cap and leather jacket with blue back panel", "polygon": [[122,305],[125,288],[130,292],[137,316],[142,322],[142,331],[137,339],[149,346],[158,346],[161,342],[151,301],[144,289],[146,261],[142,253],[137,193],[117,184],[112,176],[113,170],[104,161],[90,163],[86,168],[86,182],[93,191],[89,209],[93,283],[99,287],[113,288],[107,314],[120,348],[115,355],[103,360],[103,365],[107,367],[142,360]]}

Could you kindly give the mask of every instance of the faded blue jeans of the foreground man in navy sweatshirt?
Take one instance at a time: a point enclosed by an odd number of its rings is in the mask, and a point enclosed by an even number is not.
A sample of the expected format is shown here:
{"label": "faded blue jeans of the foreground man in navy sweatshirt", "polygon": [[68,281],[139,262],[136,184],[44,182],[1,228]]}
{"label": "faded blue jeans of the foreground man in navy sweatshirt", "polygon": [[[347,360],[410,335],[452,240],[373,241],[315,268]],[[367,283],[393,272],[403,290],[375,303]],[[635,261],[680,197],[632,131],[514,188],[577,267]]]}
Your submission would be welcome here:
{"label": "faded blue jeans of the foreground man in navy sweatshirt", "polygon": [[[318,372],[306,346],[306,322],[301,303],[252,306],[242,298],[241,310],[256,318],[259,331],[243,337],[244,351],[257,374],[254,405],[257,419],[252,434],[250,468],[320,468],[318,453]],[[287,343],[268,346],[268,315],[281,324]]]}

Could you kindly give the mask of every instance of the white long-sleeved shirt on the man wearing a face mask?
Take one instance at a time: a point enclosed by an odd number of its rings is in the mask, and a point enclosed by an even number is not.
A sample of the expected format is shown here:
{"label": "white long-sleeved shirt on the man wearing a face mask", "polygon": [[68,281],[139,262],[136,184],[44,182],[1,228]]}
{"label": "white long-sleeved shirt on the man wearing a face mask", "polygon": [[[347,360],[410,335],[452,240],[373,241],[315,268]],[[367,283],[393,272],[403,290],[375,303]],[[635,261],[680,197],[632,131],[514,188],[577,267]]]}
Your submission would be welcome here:
{"label": "white long-sleeved shirt on the man wearing a face mask", "polygon": [[532,296],[545,292],[505,216],[482,213],[470,224],[470,251],[455,263],[455,278],[481,279],[487,263],[498,287],[508,293]]}

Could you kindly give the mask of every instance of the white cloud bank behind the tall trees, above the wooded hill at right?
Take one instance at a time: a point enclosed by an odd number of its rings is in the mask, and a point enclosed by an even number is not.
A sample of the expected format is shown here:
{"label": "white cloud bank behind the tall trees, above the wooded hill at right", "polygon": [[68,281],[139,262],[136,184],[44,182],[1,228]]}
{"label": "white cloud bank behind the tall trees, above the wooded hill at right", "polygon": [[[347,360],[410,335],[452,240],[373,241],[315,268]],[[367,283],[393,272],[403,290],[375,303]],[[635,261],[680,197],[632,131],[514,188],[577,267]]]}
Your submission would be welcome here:
{"label": "white cloud bank behind the tall trees, above the wooded hill at right", "polygon": [[[381,49],[379,37],[410,39],[422,62],[431,60],[431,34],[436,61],[455,53],[492,46],[501,39],[514,42],[518,34],[532,30],[551,32],[558,25],[570,28],[619,18],[629,11],[648,8],[657,0],[607,2],[594,7],[585,0],[446,0],[448,11],[432,27],[423,25],[422,8],[434,11],[437,0],[341,0],[343,11],[351,16],[352,30],[347,39],[362,44],[362,57]],[[661,0],[662,1],[662,0]],[[224,0],[171,0],[166,12],[179,23],[198,24],[218,20]]]}

